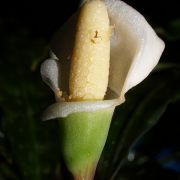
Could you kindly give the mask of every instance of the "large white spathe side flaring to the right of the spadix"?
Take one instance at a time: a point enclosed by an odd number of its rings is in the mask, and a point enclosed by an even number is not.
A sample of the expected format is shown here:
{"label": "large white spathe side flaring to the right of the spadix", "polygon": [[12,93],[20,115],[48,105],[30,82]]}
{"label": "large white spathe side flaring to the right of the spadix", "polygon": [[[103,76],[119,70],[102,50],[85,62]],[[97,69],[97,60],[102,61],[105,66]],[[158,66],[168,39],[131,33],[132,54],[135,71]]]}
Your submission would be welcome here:
{"label": "large white spathe side flaring to the right of the spadix", "polygon": [[114,25],[109,88],[123,99],[124,94],[156,66],[164,42],[144,17],[126,3],[119,0],[105,0],[105,3]]}

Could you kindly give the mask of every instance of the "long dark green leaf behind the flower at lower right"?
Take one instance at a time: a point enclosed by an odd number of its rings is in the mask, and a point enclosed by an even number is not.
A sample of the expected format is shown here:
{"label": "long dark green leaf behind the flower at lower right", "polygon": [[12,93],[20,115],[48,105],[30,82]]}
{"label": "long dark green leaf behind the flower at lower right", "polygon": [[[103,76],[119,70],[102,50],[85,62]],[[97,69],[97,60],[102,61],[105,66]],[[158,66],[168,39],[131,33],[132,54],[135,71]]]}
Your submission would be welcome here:
{"label": "long dark green leaf behind the flower at lower right", "polygon": [[180,69],[168,67],[127,93],[126,102],[114,114],[97,179],[116,179],[133,145],[157,123],[169,103],[180,100],[179,78]]}

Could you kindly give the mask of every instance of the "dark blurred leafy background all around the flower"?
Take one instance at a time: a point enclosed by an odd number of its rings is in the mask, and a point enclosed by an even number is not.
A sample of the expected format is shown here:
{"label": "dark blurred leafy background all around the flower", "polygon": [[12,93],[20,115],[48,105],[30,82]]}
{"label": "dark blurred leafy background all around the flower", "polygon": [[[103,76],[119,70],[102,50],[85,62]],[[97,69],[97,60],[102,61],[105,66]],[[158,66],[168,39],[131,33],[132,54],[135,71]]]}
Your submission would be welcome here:
{"label": "dark blurred leafy background all around the flower", "polygon": [[[165,41],[159,65],[117,107],[95,179],[180,179],[180,14],[177,2],[126,0]],[[14,3],[14,4],[13,4]],[[49,4],[50,3],[50,4]],[[41,121],[54,102],[39,67],[52,35],[77,1],[8,2],[0,9],[0,179],[68,179],[57,121]]]}

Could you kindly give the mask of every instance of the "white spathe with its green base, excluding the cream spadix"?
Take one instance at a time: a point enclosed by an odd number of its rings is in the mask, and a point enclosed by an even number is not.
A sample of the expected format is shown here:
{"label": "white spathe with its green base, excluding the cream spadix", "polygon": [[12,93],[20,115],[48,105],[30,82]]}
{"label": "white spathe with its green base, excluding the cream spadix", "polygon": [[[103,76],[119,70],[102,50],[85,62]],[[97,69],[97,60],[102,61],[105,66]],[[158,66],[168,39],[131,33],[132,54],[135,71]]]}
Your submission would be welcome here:
{"label": "white spathe with its green base, excluding the cream spadix", "polygon": [[42,79],[56,97],[56,103],[44,112],[43,120],[61,118],[62,153],[75,179],[93,178],[114,108],[125,101],[129,89],[149,75],[165,46],[135,9],[119,0],[103,2],[113,26],[104,100],[69,101],[70,57],[78,12],[55,35],[51,58],[41,65]]}

